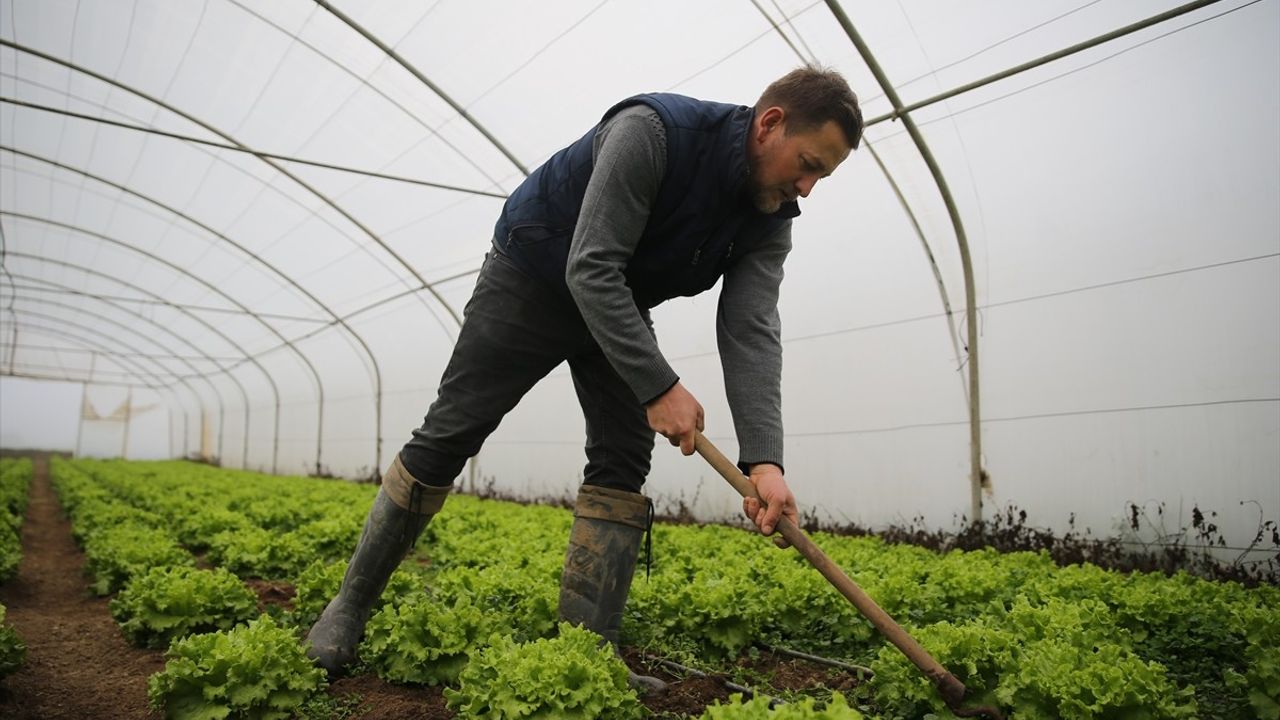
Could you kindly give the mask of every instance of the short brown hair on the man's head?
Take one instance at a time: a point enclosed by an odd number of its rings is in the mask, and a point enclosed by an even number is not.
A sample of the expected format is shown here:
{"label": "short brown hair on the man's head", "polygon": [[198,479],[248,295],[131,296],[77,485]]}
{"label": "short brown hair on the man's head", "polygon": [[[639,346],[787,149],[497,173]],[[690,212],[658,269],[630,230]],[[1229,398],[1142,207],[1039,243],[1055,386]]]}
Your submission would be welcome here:
{"label": "short brown hair on the man's head", "polygon": [[829,68],[804,65],[773,81],[755,101],[755,111],[777,105],[786,111],[787,135],[835,122],[845,132],[849,147],[863,138],[863,111],[844,76]]}

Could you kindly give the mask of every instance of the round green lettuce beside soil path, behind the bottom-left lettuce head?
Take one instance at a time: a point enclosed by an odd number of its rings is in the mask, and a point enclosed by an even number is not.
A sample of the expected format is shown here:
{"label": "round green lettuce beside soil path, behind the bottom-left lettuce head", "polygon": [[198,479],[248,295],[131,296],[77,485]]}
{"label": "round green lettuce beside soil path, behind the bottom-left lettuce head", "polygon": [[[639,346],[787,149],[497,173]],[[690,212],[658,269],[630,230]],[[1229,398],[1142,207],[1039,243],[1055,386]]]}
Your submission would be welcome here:
{"label": "round green lettuce beside soil path, behind the bottom-left lettuce head", "polygon": [[252,620],[257,596],[223,569],[152,568],[136,577],[110,607],[129,642],[163,648],[174,638]]}

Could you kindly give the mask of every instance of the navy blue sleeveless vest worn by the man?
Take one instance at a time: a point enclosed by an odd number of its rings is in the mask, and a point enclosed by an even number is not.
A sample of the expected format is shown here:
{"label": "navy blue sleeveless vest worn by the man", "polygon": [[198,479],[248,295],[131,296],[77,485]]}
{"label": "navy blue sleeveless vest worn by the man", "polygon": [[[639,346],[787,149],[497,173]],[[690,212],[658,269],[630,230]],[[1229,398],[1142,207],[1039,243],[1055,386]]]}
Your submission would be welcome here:
{"label": "navy blue sleeveless vest worn by the man", "polygon": [[[637,95],[611,108],[600,124],[640,102],[653,108],[667,129],[667,169],[626,268],[636,304],[652,307],[714,286],[735,259],[799,215],[800,208],[786,202],[765,215],[751,204],[745,184],[751,108],[684,95]],[[499,250],[566,296],[564,265],[599,127],[534,170],[507,199],[494,227]]]}

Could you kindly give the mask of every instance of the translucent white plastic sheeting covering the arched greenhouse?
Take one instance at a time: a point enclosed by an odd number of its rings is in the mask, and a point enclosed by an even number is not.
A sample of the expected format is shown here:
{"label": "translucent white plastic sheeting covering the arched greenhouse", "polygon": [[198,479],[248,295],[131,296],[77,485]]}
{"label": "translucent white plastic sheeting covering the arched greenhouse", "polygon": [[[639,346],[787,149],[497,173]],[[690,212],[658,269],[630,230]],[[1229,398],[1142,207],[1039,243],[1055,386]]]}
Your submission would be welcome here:
{"label": "translucent white plastic sheeting covering the arched greenhouse", "polygon": [[[374,474],[530,169],[625,96],[749,105],[815,61],[874,122],[782,291],[805,510],[972,515],[972,316],[986,512],[1194,506],[1248,543],[1280,519],[1280,3],[1196,5],[3,0],[4,445]],[[732,455],[714,309],[654,319]],[[566,496],[581,443],[562,368],[462,482]],[[722,486],[655,448],[659,509],[728,516]]]}

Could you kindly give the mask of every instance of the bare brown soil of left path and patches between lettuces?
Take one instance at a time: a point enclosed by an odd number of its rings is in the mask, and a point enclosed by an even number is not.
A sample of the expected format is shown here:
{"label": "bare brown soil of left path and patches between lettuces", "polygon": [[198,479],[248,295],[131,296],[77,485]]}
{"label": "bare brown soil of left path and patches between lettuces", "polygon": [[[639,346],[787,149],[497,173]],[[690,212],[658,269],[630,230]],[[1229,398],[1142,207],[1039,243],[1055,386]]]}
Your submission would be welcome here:
{"label": "bare brown soil of left path and patches between lettuces", "polygon": [[[147,678],[164,669],[164,653],[128,644],[108,610],[109,598],[93,597],[83,575],[84,556],[72,541],[49,482],[49,457],[35,456],[31,502],[22,529],[18,577],[0,587],[0,602],[27,643],[24,666],[0,682],[0,717],[9,720],[160,720],[147,705]],[[246,580],[261,610],[291,609],[294,589],[275,580]],[[723,678],[678,678],[632,650],[625,652],[637,673],[655,675],[669,687],[643,698],[655,720],[696,717],[708,703],[726,701]],[[804,670],[788,661],[759,660],[750,670],[777,676],[783,689],[814,687],[831,675]],[[374,675],[334,682],[329,694],[351,703],[352,720],[447,720],[440,688],[385,683]]]}

